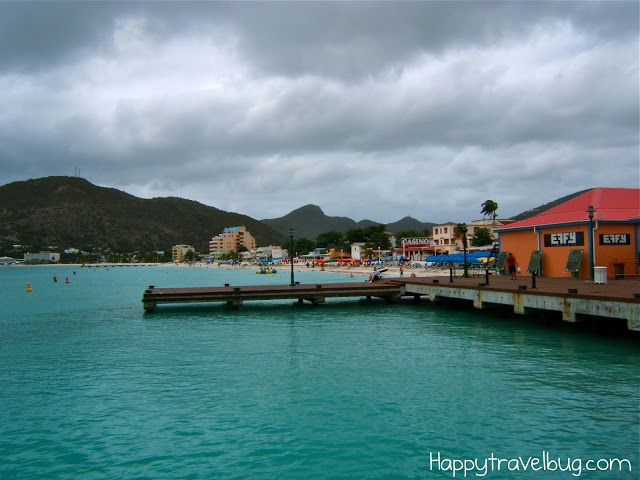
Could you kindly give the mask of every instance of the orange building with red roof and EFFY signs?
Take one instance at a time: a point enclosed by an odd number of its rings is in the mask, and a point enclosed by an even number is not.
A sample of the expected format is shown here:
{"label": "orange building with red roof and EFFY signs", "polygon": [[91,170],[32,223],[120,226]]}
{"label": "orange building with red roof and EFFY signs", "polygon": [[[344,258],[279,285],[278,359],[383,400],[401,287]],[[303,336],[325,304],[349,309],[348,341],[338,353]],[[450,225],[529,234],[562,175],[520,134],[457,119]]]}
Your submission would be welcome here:
{"label": "orange building with red roof and EFFY signs", "polygon": [[[569,277],[576,267],[577,276],[588,279],[590,255],[594,267],[607,267],[609,277],[638,275],[639,229],[640,189],[600,187],[496,231],[500,251],[513,253],[523,274],[538,251],[542,276]],[[576,261],[568,265],[572,251]]]}

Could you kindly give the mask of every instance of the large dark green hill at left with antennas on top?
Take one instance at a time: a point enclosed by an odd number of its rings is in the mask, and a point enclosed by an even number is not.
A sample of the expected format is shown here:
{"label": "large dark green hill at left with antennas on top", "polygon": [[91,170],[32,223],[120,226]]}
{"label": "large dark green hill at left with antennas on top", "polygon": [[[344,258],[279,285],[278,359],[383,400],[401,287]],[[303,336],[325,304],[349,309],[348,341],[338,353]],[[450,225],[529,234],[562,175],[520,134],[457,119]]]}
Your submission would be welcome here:
{"label": "large dark green hill at left with antennas on top", "polygon": [[0,245],[33,249],[162,250],[177,244],[206,252],[225,227],[244,225],[258,245],[285,238],[246,215],[181,198],[141,199],[78,177],[46,177],[0,187]]}

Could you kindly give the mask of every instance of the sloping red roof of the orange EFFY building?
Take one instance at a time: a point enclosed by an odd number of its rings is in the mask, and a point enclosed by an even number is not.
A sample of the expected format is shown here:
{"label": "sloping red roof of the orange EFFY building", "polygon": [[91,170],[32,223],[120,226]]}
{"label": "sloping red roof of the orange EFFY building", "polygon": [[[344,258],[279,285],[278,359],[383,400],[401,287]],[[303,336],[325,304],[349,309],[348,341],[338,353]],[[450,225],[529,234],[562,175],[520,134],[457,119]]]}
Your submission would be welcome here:
{"label": "sloping red roof of the orange EFFY building", "polygon": [[588,222],[587,209],[594,208],[594,220],[629,221],[640,218],[640,189],[599,187],[550,208],[534,217],[510,223],[496,230],[512,230],[541,225]]}

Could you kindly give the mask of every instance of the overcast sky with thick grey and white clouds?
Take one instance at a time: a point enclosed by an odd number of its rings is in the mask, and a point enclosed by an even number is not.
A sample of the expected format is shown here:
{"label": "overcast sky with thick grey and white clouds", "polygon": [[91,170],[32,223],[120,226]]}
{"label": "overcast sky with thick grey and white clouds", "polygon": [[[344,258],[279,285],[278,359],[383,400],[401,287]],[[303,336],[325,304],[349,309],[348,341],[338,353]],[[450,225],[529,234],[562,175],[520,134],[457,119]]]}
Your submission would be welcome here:
{"label": "overcast sky with thick grey and white clouds", "polygon": [[0,184],[256,219],[640,185],[638,2],[0,2]]}

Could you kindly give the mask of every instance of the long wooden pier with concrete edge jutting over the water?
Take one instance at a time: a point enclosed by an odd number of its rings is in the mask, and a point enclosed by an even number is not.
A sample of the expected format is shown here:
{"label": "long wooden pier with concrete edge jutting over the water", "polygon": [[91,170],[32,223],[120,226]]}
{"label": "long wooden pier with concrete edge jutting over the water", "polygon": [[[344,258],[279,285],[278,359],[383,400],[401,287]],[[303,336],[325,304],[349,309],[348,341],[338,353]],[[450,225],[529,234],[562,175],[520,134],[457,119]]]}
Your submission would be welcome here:
{"label": "long wooden pier with concrete edge jutting over the water", "polygon": [[629,330],[640,331],[640,280],[613,280],[594,284],[573,278],[520,277],[492,275],[472,278],[404,277],[374,283],[318,283],[295,286],[251,285],[196,288],[155,288],[142,296],[145,312],[157,304],[222,302],[234,308],[251,300],[297,300],[318,305],[333,297],[382,298],[387,302],[401,297],[435,302],[443,298],[467,301],[477,309],[486,305],[507,305],[518,314],[546,310],[562,314],[567,322],[583,316],[624,319]]}

